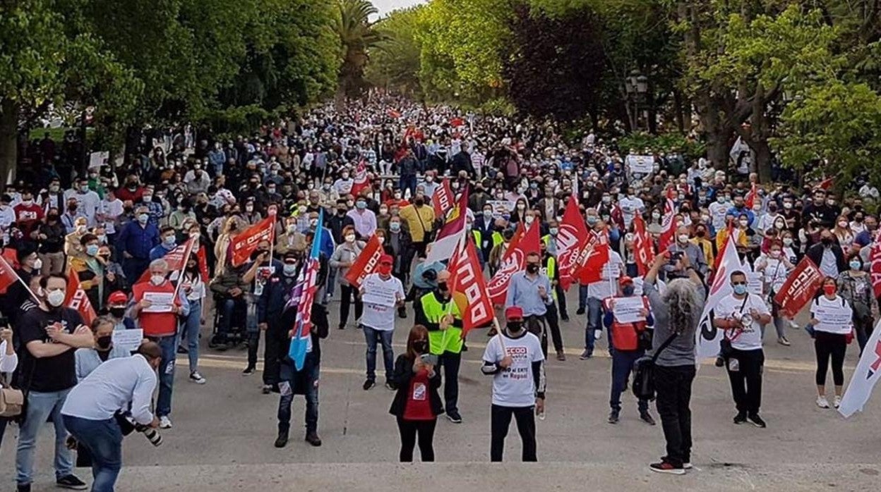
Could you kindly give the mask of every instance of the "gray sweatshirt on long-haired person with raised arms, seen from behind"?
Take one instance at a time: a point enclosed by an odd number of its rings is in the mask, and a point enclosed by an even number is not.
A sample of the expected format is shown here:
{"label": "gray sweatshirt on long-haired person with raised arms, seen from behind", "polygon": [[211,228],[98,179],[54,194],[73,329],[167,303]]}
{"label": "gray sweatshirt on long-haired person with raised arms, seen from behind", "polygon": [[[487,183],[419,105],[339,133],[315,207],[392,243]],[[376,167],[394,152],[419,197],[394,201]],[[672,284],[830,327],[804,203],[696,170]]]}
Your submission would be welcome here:
{"label": "gray sweatshirt on long-haired person with raised arms, seen from behind", "polygon": [[[664,302],[661,293],[655,288],[655,283],[645,283],[642,290],[648,296],[648,305],[651,306],[652,316],[655,317],[655,335],[652,339],[652,350],[650,354],[647,354],[647,356],[651,356],[673,333],[670,330],[670,308]],[[700,312],[703,312],[704,302],[704,289],[699,288],[698,305],[695,306],[698,315],[694,319],[694,324],[681,331],[670,345],[663,349],[661,355],[658,356],[657,365],[666,367],[694,365],[694,332],[698,328],[698,323],[700,323]],[[681,329],[681,327],[677,328]]]}

